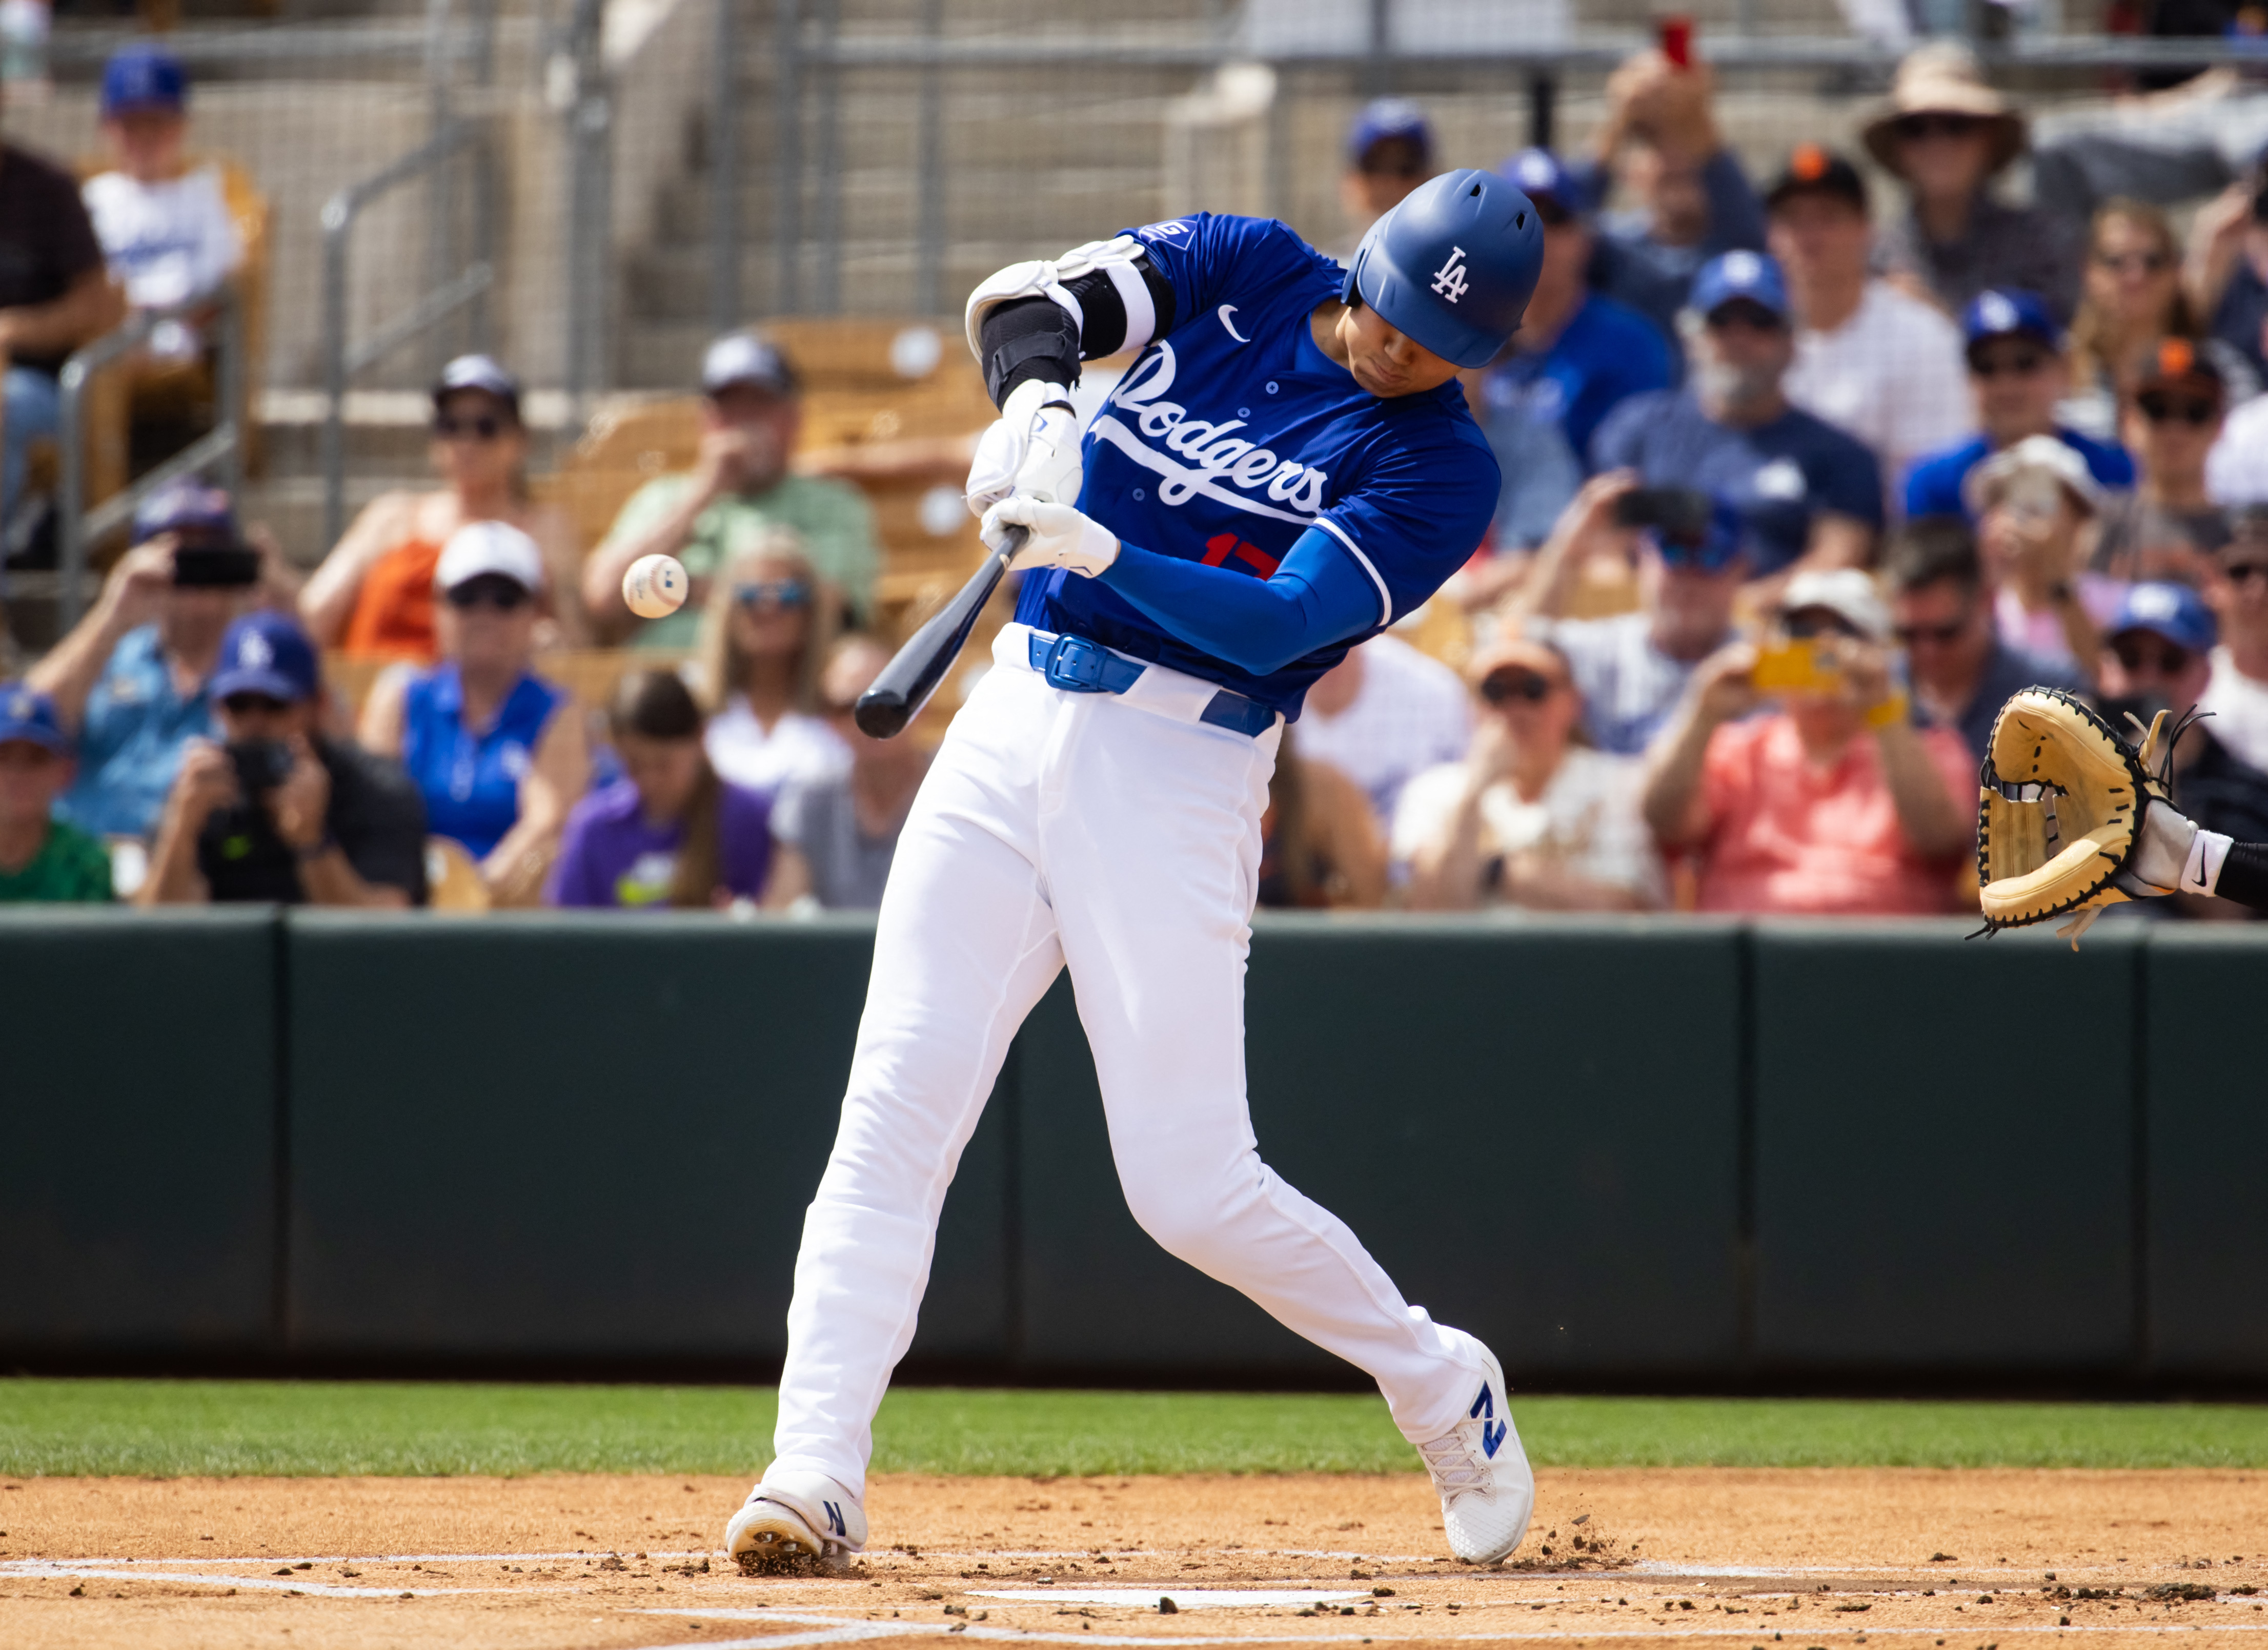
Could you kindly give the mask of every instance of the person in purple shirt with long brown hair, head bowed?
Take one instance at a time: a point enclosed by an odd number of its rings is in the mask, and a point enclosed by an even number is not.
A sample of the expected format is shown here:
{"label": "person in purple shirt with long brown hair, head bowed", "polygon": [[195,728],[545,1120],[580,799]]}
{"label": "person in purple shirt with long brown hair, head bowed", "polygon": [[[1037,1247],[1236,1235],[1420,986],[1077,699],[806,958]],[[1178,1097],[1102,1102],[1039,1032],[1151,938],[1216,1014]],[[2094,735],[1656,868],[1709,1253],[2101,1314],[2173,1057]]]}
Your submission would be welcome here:
{"label": "person in purple shirt with long brown hair, head bowed", "polygon": [[771,882],[771,798],[726,784],[676,671],[631,671],[606,707],[624,777],[567,814],[544,904],[721,911]]}

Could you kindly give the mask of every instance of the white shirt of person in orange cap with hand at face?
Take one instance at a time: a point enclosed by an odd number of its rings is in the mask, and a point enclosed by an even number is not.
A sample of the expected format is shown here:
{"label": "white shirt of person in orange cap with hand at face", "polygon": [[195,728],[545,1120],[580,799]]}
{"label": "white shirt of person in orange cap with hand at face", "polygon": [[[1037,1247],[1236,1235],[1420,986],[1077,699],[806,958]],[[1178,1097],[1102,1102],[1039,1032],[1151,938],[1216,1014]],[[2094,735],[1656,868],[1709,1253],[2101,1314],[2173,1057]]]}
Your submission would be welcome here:
{"label": "white shirt of person in orange cap with hand at face", "polygon": [[[1572,746],[1560,759],[1551,784],[1533,802],[1522,802],[1510,780],[1481,791],[1481,859],[1542,854],[1560,868],[1590,882],[1603,882],[1642,895],[1649,904],[1665,898],[1662,857],[1653,834],[1637,811],[1644,775],[1635,759],[1610,757]],[[1438,836],[1456,798],[1465,789],[1465,764],[1449,762],[1427,768],[1402,789],[1395,809],[1393,859],[1408,866],[1417,850]],[[1495,904],[1495,877],[1481,891]]]}

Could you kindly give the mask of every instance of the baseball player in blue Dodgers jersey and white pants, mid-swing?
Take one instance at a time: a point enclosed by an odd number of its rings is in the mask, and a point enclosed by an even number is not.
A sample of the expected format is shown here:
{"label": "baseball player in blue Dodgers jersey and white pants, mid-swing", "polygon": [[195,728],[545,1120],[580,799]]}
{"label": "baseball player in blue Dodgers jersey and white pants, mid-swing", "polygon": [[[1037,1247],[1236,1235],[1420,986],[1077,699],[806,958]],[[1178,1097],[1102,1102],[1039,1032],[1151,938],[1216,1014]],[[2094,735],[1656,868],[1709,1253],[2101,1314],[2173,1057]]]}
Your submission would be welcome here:
{"label": "baseball player in blue Dodgers jersey and white pants, mid-swing", "polygon": [[[1481,542],[1497,465],[1454,374],[1520,326],[1540,247],[1526,195],[1452,172],[1352,270],[1200,213],[971,295],[1000,422],[968,499],[987,544],[1025,530],[1025,578],[898,841],[735,1557],[864,1548],[873,1412],[946,1185],[1061,968],[1143,1231],[1379,1383],[1461,1559],[1520,1543],[1533,1475],[1495,1355],[1259,1158],[1243,981],[1279,730]],[[1080,360],[1120,349],[1141,354],[1080,442]]]}

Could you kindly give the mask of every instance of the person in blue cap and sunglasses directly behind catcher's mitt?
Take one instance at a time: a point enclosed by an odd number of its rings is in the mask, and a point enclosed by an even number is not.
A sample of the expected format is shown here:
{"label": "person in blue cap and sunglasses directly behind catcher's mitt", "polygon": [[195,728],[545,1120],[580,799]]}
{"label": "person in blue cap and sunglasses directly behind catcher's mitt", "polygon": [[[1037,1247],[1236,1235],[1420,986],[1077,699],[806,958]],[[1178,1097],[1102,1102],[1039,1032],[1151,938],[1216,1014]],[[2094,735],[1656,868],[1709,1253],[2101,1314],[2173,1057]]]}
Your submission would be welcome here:
{"label": "person in blue cap and sunglasses directly behind catcher's mitt", "polygon": [[[2257,551],[2254,551],[2257,555]],[[2268,558],[2263,558],[2268,560]],[[2114,728],[2159,709],[2184,716],[2209,698],[2214,614],[2189,585],[2136,585],[2102,635],[2102,709]],[[2202,830],[2241,843],[2268,841],[2268,773],[2248,764],[2218,721],[2200,721],[2173,748],[2173,805]],[[2143,900],[2152,916],[2243,918],[2225,900]]]}

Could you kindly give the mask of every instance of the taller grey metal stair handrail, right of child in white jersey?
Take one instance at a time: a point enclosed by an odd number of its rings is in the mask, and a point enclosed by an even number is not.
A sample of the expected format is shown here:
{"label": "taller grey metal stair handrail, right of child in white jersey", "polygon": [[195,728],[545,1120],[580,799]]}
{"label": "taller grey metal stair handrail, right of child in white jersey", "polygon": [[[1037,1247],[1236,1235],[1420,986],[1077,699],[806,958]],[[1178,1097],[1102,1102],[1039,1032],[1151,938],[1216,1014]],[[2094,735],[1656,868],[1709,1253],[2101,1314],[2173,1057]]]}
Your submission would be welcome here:
{"label": "taller grey metal stair handrail, right of child in white jersey", "polygon": [[474,159],[483,143],[481,129],[472,120],[451,120],[426,143],[417,145],[399,161],[372,172],[358,184],[338,190],[322,206],[322,533],[324,546],[338,544],[347,530],[347,381],[390,356],[413,338],[440,326],[463,308],[469,308],[472,345],[488,345],[488,288],[494,286],[494,263],[490,240],[494,231],[492,190],[488,165],[474,165],[474,252],[465,267],[431,286],[424,297],[406,311],[381,322],[361,342],[347,340],[347,254],[356,220],[390,190],[413,179],[426,177],[458,154]]}

